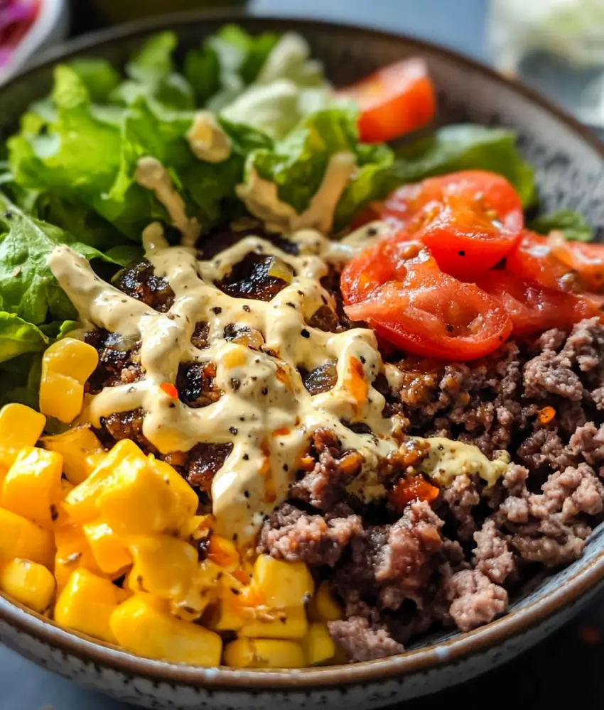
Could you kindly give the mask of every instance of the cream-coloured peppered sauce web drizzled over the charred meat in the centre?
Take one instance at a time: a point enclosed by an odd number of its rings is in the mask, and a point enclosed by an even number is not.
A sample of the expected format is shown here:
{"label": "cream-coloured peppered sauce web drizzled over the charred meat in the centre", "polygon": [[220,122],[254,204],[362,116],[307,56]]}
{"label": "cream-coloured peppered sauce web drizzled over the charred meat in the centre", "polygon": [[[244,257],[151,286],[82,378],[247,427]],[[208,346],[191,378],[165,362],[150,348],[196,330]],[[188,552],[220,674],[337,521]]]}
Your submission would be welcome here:
{"label": "cream-coloured peppered sauce web drizzled over the charred meat in the centre", "polygon": [[[175,300],[159,313],[102,282],[88,262],[68,246],[50,256],[50,268],[80,313],[84,327],[141,339],[146,375],[88,396],[82,421],[99,427],[102,417],[136,408],[145,411],[143,433],[163,454],[188,451],[198,442],[232,443],[232,452],[212,482],[212,512],[217,532],[244,544],[256,534],[265,515],[286,498],[306,442],[313,430],[329,427],[345,449],[364,457],[360,479],[377,461],[398,447],[397,417],[382,417],[384,397],[373,387],[384,372],[374,334],[355,328],[338,334],[308,326],[319,307],[330,303],[320,285],[328,262],[347,261],[387,227],[370,225],[339,242],[304,229],[292,240],[300,253],[291,256],[257,236],[247,236],[210,261],[198,261],[187,246],[168,246],[161,225],[144,231],[146,256],[166,277]],[[295,274],[271,301],[234,298],[214,284],[250,251],[278,256]],[[209,324],[209,346],[190,342],[197,322]],[[228,324],[247,326],[264,338],[264,351],[225,340]],[[212,361],[220,400],[193,409],[163,392],[175,382],[180,363]],[[298,366],[311,371],[337,361],[338,380],[325,393],[311,395]],[[386,374],[397,384],[396,368]],[[356,434],[342,421],[363,422],[372,434]],[[474,447],[472,447],[474,448]],[[478,449],[477,449],[478,451]]]}

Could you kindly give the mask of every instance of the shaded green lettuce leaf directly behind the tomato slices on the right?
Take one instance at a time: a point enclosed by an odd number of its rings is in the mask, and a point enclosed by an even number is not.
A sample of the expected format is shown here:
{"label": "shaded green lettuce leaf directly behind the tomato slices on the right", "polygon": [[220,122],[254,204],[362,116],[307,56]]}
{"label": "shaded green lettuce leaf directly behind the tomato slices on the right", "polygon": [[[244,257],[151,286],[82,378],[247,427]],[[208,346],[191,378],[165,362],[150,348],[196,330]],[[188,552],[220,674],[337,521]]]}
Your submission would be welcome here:
{"label": "shaded green lettuce leaf directly behind the tomato slices on the right", "polygon": [[536,203],[534,171],[516,146],[509,129],[457,124],[438,129],[397,152],[399,182],[417,182],[457,170],[491,170],[514,185],[524,208]]}

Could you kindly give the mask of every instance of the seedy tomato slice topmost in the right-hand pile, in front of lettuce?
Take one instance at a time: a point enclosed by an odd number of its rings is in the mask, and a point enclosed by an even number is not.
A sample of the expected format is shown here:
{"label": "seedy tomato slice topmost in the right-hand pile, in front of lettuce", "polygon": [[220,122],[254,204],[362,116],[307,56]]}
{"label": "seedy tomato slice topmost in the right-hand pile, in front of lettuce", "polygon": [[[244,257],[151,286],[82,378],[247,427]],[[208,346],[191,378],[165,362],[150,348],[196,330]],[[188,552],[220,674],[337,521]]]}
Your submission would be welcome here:
{"label": "seedy tomato slice topmost in the right-hand pile, in front of lettuce", "polygon": [[382,217],[426,244],[443,271],[463,280],[501,261],[524,220],[512,185],[484,170],[404,185],[384,202]]}

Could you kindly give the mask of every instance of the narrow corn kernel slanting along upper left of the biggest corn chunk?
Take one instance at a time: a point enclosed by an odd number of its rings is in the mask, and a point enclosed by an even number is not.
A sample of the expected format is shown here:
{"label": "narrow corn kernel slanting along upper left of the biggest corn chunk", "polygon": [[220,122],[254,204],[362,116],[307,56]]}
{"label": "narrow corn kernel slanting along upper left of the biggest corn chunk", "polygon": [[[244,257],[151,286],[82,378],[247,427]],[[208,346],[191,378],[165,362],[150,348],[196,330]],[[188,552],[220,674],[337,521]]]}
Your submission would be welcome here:
{"label": "narrow corn kernel slanting along upper left of the biggest corn chunk", "polygon": [[126,464],[132,461],[146,461],[145,454],[131,439],[117,442],[92,474],[68,494],[65,498],[65,510],[71,518],[78,523],[90,523],[98,517],[97,498],[107,486],[114,469],[124,461]]}

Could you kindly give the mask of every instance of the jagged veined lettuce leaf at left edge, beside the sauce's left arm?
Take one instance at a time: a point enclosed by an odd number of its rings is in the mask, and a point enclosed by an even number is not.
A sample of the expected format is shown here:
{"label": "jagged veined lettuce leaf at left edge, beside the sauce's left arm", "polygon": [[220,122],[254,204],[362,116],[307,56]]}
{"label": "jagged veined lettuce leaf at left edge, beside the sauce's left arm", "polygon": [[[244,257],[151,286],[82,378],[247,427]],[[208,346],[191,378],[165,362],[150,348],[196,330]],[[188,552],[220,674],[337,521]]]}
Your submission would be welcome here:
{"label": "jagged veined lettuce leaf at left edge, beside the sauce's left arm", "polygon": [[58,226],[28,216],[0,192],[0,308],[30,324],[77,316],[48,267],[58,244],[69,244],[87,259],[110,261],[97,249],[77,242]]}

